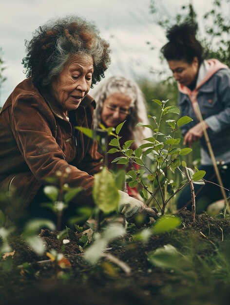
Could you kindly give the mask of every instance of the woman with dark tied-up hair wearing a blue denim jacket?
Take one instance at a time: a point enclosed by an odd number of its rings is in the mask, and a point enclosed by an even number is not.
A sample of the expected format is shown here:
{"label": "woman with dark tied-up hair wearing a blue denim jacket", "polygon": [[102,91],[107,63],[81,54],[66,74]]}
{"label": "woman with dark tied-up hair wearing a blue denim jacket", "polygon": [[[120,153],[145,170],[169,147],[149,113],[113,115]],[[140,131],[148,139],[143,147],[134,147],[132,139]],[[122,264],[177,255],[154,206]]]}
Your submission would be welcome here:
{"label": "woman with dark tied-up hair wearing a blue denim jacket", "polygon": [[[201,166],[206,171],[205,179],[218,184],[212,165],[202,123],[197,113],[197,103],[204,119],[216,162],[225,188],[230,187],[230,69],[217,59],[204,57],[204,49],[196,39],[196,25],[183,23],[174,25],[167,33],[169,41],[161,51],[167,59],[173,77],[178,82],[179,107],[181,116],[188,115],[193,121],[182,126],[184,144],[192,146],[194,141],[201,144]],[[214,184],[194,185],[197,210],[222,197],[220,188]],[[189,187],[184,188],[178,198],[178,209],[191,208]]]}

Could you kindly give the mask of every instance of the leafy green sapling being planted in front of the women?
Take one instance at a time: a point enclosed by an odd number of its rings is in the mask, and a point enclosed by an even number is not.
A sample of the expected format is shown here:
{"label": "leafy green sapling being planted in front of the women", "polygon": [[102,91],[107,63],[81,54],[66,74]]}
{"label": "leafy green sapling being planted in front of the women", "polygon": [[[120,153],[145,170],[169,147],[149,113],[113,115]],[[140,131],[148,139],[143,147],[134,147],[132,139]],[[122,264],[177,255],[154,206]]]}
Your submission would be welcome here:
{"label": "leafy green sapling being planted in front of the women", "polygon": [[[178,120],[168,119],[164,122],[163,119],[165,116],[168,114],[178,115],[180,110],[176,106],[166,106],[168,100],[160,101],[158,99],[153,99],[153,101],[161,107],[159,119],[157,120],[155,116],[149,115],[149,118],[152,119],[153,124],[146,125],[143,123],[138,123],[136,125],[140,128],[150,128],[153,131],[153,136],[144,139],[146,143],[140,145],[140,147],[138,147],[136,150],[130,149],[131,144],[135,140],[126,141],[121,147],[119,143],[119,140],[121,139],[119,132],[124,124],[124,122],[122,122],[116,127],[115,133],[111,132],[115,138],[110,141],[109,145],[113,146],[114,148],[110,149],[108,153],[121,152],[123,154],[123,156],[115,158],[112,162],[117,164],[131,164],[133,170],[127,173],[127,175],[131,178],[129,186],[135,187],[137,184],[139,184],[142,188],[144,198],[149,199],[150,197],[153,197],[161,211],[161,215],[164,215],[168,202],[187,184],[191,182],[196,183],[194,182],[195,179],[193,179],[193,176],[190,177],[191,179],[189,179],[189,181],[187,177],[187,181],[181,183],[181,185],[167,179],[168,170],[174,172],[176,169],[179,169],[185,175],[185,173],[180,169],[180,166],[182,165],[186,171],[188,169],[186,163],[181,162],[181,157],[192,152],[192,149],[181,149],[179,147],[181,139],[176,137],[176,134],[179,127],[191,122],[192,118],[189,116],[182,116]],[[170,129],[170,133],[168,135],[161,133],[163,123],[166,124]],[[146,163],[146,156],[152,159],[152,164],[155,166],[154,170],[152,167],[148,167]],[[138,164],[140,169],[136,170],[133,166],[134,164]],[[195,174],[199,175],[198,183],[204,184],[201,179],[203,178],[205,172],[198,171]],[[165,189],[167,190],[167,187],[169,186],[172,189],[171,194],[169,194],[168,191],[165,191]],[[174,188],[176,188],[175,191]],[[157,190],[160,192],[160,200],[155,196]],[[193,212],[195,212],[194,207],[195,202],[193,202]]]}

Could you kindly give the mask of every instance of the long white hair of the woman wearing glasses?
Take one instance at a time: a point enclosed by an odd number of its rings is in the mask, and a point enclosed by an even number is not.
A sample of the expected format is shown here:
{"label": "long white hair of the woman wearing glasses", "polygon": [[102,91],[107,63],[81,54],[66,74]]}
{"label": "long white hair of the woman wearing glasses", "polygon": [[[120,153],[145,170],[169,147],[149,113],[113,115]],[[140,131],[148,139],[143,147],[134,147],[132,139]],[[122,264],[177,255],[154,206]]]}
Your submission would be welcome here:
{"label": "long white hair of the woman wearing glasses", "polygon": [[136,124],[141,122],[149,124],[149,119],[146,112],[146,101],[139,86],[133,80],[127,79],[123,76],[112,76],[103,81],[91,95],[96,101],[96,110],[94,114],[94,126],[97,128],[101,123],[101,113],[104,101],[114,93],[122,93],[131,97],[131,114],[129,114],[128,129],[135,140],[135,144],[139,145],[145,143],[144,138],[151,137],[152,133],[149,128],[136,127]]}

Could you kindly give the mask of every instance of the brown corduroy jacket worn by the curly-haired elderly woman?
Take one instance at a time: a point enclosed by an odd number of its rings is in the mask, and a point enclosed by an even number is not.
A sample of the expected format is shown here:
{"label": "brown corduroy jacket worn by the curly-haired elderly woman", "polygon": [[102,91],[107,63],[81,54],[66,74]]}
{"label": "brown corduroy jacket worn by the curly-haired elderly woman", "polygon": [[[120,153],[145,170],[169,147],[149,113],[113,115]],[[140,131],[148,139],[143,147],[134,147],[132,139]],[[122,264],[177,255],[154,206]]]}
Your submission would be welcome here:
{"label": "brown corduroy jacket worn by the curly-haired elderly woman", "polygon": [[102,156],[96,141],[74,127],[93,127],[95,101],[86,95],[77,110],[69,112],[69,120],[55,105],[44,89],[38,90],[27,78],[2,107],[0,210],[26,208],[41,185],[47,184],[47,177],[67,168],[70,173],[65,182],[82,187],[73,201],[93,205],[93,175],[100,171]]}

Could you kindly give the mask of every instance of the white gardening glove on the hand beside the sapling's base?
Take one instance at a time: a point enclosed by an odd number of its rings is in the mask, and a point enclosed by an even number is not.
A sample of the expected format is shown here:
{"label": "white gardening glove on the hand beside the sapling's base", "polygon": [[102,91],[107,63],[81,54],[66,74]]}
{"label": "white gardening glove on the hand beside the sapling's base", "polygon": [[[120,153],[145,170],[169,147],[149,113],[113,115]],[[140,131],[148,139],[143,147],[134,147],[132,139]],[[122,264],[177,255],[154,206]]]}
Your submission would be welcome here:
{"label": "white gardening glove on the hand beside the sapling's base", "polygon": [[130,197],[124,191],[118,191],[120,201],[118,203],[118,211],[125,216],[128,222],[132,222],[137,228],[140,228],[146,222],[149,222],[149,217],[154,217],[157,210],[148,208],[143,202]]}

